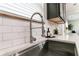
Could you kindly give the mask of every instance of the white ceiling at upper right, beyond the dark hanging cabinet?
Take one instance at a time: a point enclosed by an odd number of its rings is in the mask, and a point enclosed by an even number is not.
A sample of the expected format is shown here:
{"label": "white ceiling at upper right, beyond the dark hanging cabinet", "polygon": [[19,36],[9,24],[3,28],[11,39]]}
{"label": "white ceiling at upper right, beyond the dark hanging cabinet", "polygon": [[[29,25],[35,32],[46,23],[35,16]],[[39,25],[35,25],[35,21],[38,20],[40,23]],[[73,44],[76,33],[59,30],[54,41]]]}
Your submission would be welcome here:
{"label": "white ceiling at upper right, beyond the dark hanging cabinet", "polygon": [[68,20],[79,20],[79,4],[67,3],[66,16]]}

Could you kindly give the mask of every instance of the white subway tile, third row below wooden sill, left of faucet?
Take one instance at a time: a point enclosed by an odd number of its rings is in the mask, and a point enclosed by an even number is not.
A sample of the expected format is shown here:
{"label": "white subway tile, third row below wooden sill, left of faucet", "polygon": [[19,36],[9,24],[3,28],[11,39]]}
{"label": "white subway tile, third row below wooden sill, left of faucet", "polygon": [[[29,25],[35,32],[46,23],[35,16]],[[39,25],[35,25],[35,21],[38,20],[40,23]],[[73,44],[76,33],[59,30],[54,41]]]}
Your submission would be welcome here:
{"label": "white subway tile, third row below wooden sill, left of faucet", "polygon": [[17,40],[24,37],[24,33],[3,33],[3,40]]}

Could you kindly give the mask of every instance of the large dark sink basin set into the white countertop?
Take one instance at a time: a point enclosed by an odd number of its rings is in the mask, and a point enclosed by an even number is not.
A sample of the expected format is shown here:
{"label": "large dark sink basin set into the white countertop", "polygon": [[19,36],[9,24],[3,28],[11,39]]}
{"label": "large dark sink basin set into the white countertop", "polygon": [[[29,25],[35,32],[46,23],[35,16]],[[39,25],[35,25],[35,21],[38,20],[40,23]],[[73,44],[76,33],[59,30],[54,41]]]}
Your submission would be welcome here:
{"label": "large dark sink basin set into the white countertop", "polygon": [[33,46],[21,56],[77,56],[77,49],[74,43],[47,40],[42,49]]}

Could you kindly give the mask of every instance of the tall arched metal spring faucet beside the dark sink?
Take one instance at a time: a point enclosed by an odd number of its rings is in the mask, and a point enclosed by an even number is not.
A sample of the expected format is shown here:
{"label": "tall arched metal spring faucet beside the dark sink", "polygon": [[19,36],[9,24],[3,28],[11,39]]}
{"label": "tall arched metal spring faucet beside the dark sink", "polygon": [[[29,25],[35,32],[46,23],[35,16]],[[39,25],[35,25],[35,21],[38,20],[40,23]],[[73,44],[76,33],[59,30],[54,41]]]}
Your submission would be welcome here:
{"label": "tall arched metal spring faucet beside the dark sink", "polygon": [[38,14],[41,19],[42,19],[42,35],[41,36],[44,36],[44,22],[43,22],[43,16],[38,13],[38,12],[35,12],[32,16],[31,16],[31,20],[30,20],[30,43],[32,43],[33,41],[36,41],[36,38],[33,37],[32,35],[32,19],[33,19],[33,16]]}

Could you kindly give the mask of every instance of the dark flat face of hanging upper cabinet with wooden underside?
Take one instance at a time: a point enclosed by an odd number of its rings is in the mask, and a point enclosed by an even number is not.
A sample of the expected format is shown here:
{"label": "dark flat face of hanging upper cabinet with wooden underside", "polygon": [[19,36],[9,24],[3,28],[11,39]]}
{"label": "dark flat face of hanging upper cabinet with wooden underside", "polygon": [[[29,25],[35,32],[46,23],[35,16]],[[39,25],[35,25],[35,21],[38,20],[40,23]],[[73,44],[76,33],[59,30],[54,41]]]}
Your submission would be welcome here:
{"label": "dark flat face of hanging upper cabinet with wooden underside", "polygon": [[47,3],[47,19],[60,16],[59,3]]}

